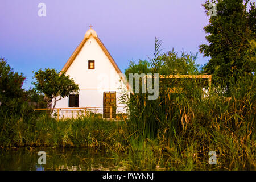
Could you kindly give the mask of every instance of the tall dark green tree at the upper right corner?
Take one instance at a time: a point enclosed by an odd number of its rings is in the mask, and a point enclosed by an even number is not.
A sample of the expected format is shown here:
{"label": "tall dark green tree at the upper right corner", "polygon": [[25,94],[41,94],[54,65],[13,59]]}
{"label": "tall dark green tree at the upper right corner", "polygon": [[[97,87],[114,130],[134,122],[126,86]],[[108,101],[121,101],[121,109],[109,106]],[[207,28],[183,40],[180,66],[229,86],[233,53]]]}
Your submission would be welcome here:
{"label": "tall dark green tree at the upper right corner", "polygon": [[[217,15],[211,16],[204,27],[209,45],[202,44],[200,52],[211,59],[204,72],[213,74],[213,81],[220,78],[229,88],[229,78],[240,72],[251,75],[253,68],[247,61],[250,41],[255,39],[255,3],[249,0],[207,0],[203,7],[209,16],[210,3],[216,3]],[[250,3],[250,7],[249,7]]]}

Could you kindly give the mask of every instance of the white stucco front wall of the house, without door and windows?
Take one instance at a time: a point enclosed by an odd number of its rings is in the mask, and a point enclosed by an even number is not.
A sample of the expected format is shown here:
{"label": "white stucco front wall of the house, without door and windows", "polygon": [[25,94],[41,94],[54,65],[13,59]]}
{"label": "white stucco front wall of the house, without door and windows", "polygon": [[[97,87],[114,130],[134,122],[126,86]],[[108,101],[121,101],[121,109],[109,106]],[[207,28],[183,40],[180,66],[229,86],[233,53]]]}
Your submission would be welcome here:
{"label": "white stucco front wall of the house, without door and windows", "polygon": [[[64,66],[65,74],[79,84],[79,108],[103,107],[104,92],[115,91],[117,113],[125,113],[125,105],[119,100],[122,94],[119,88],[122,86],[126,89],[126,86],[118,75],[119,68],[113,64],[113,60],[110,61],[110,55],[102,49],[102,44],[99,44],[99,39],[93,29],[86,32],[85,38],[85,43],[80,44],[79,51],[76,49],[75,56],[73,53],[72,63],[68,66],[66,63]],[[89,60],[94,60],[94,69],[88,68]],[[57,101],[55,108],[69,108],[69,98],[65,97]],[[60,117],[63,117],[64,112],[60,110]],[[97,111],[97,113],[102,112],[102,109]]]}

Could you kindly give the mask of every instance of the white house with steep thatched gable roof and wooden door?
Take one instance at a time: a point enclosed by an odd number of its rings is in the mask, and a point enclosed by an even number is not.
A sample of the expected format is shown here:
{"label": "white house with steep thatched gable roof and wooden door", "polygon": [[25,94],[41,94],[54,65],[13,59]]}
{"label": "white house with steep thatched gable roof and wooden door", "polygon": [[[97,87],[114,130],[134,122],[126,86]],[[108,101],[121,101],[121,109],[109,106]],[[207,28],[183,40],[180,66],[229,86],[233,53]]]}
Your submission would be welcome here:
{"label": "white house with steep thatched gable roof and wooden door", "polygon": [[60,117],[70,116],[71,111],[78,113],[74,108],[81,107],[99,107],[97,112],[104,118],[109,118],[110,109],[100,107],[117,106],[113,113],[125,112],[125,105],[119,100],[122,93],[119,88],[126,88],[120,81],[122,72],[92,28],[61,71],[73,78],[80,90],[79,95],[69,95],[56,102],[55,108],[73,108],[61,109]]}

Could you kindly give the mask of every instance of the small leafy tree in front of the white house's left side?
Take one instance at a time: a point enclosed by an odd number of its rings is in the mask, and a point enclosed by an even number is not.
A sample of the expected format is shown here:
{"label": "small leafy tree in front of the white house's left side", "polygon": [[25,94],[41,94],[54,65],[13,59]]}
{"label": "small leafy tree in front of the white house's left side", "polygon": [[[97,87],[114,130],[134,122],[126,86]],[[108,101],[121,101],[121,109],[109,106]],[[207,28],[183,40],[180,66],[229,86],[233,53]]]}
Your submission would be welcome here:
{"label": "small leafy tree in front of the white house's left side", "polygon": [[[32,82],[35,85],[35,89],[44,94],[44,100],[47,102],[47,107],[55,108],[56,102],[69,94],[77,94],[79,91],[79,85],[75,84],[74,80],[65,75],[65,73],[57,72],[55,69],[39,69],[34,72],[34,78],[36,82]],[[58,97],[58,98],[57,98]]]}

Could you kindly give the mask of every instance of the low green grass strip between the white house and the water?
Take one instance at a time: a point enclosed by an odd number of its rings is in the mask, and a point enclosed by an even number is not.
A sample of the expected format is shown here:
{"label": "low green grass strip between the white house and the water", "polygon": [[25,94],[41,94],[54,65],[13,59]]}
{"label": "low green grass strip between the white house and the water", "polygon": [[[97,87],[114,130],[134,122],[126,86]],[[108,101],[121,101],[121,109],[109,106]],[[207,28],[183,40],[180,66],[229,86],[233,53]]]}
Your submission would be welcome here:
{"label": "low green grass strip between the white house and the water", "polygon": [[79,146],[110,150],[114,147],[115,151],[122,151],[125,145],[123,122],[109,122],[93,116],[57,122],[45,114],[27,120],[5,118],[1,122],[2,147]]}

